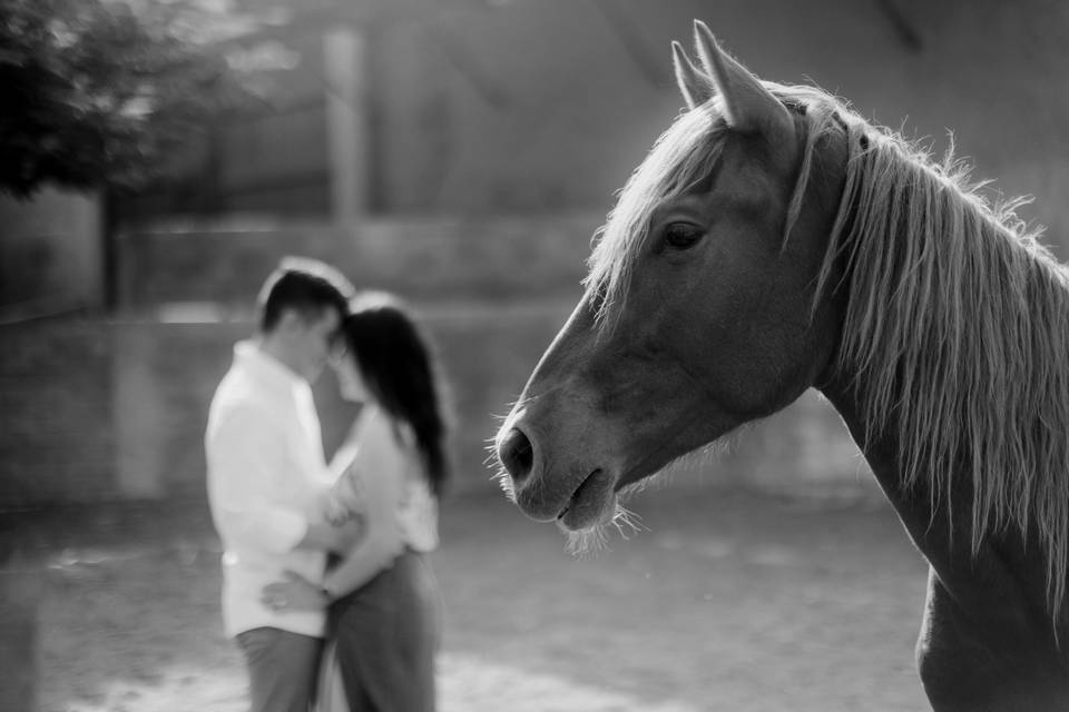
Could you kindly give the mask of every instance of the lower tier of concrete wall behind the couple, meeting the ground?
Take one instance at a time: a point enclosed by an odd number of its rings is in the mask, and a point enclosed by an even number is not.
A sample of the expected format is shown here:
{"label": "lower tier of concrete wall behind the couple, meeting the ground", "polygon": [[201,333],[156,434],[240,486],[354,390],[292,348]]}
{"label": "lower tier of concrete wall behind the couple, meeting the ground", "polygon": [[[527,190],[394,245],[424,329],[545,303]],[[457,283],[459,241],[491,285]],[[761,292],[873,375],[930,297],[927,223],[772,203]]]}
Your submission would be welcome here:
{"label": "lower tier of concrete wall behind the couple, meeting the ground", "polygon": [[[492,490],[487,441],[571,303],[496,309],[418,305],[434,337],[455,411],[457,492]],[[0,510],[115,498],[204,496],[205,417],[247,322],[67,319],[0,328]],[[324,447],[356,412],[333,374],[314,387]],[[820,497],[875,496],[837,416],[815,394],[742,434],[678,485],[753,487]]]}

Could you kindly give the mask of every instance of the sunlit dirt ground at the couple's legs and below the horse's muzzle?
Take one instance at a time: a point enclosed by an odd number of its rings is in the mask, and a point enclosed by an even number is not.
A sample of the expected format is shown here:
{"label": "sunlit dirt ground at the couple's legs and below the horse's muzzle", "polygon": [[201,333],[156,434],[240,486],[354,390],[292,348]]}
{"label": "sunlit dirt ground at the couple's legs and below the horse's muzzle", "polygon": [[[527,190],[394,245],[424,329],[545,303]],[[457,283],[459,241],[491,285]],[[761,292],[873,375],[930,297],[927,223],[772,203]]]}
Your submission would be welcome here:
{"label": "sunlit dirt ground at the couple's legs and below the horse's muzzle", "polygon": [[[586,558],[501,496],[447,503],[443,712],[928,709],[925,566],[890,510],[647,492]],[[203,504],[8,517],[47,570],[42,712],[244,712]]]}

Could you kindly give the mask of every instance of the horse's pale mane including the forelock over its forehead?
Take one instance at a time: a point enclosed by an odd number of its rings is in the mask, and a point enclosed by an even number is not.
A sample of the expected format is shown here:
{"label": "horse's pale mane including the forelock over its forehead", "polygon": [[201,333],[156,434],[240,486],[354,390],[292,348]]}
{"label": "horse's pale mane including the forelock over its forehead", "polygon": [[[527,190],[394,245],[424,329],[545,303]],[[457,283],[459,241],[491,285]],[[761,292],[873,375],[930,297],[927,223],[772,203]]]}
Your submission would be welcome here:
{"label": "horse's pale mane including the forelock over its forehead", "polygon": [[[818,145],[847,146],[813,304],[845,290],[835,367],[864,385],[865,439],[896,437],[901,481],[926,482],[933,512],[953,516],[955,477],[971,477],[973,554],[988,534],[1038,534],[1057,614],[1069,558],[1069,275],[1016,216],[1026,201],[990,202],[952,150],[936,162],[820,89],[764,83],[800,117],[804,139],[784,240]],[[626,299],[656,207],[716,169],[719,116],[715,98],[679,116],[621,191],[585,281],[602,325]]]}

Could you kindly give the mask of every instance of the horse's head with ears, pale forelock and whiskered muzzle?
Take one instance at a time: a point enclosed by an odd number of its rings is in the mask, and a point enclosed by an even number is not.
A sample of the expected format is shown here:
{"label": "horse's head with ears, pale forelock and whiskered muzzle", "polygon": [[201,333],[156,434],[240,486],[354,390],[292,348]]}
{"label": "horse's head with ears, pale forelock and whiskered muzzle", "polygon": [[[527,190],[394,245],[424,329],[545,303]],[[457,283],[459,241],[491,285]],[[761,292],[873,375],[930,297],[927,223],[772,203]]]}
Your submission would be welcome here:
{"label": "horse's head with ears, pale forelock and whiskered muzzle", "polygon": [[568,531],[611,521],[621,490],[783,408],[834,359],[841,305],[814,295],[845,149],[811,139],[805,109],[705,24],[695,36],[700,67],[673,46],[689,108],[620,194],[497,437],[521,510]]}

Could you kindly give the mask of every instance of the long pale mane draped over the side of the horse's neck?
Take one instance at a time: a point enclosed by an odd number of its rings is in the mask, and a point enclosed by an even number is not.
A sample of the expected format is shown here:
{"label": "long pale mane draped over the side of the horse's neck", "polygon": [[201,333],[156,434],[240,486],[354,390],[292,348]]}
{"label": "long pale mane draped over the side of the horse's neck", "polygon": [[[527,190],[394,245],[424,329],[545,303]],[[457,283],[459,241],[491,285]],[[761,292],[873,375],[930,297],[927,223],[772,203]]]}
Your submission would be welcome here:
{"label": "long pale mane draped over the side of the horse's neck", "polygon": [[853,388],[830,389],[852,427],[863,426],[857,442],[872,441],[870,458],[889,463],[889,494],[906,492],[904,482],[957,505],[953,492],[975,485],[973,502],[951,508],[973,517],[972,545],[1040,517],[1062,554],[1066,276],[1007,221],[1012,211],[988,208],[891,138],[871,145],[849,161],[817,279],[817,294],[842,310],[828,370]]}

